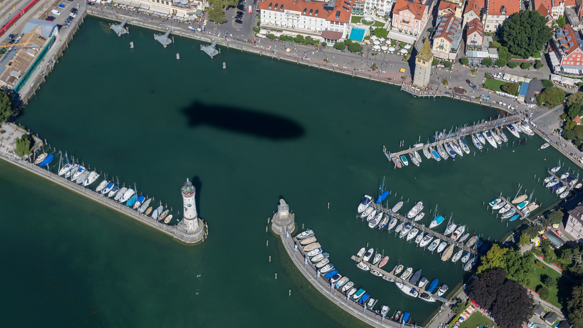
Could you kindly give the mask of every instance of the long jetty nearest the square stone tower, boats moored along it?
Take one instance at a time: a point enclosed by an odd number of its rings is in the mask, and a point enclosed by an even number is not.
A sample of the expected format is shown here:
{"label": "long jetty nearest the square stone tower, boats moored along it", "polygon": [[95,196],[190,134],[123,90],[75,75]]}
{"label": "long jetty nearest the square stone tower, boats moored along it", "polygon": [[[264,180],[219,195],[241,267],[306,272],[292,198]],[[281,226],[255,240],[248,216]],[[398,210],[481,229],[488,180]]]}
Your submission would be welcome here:
{"label": "long jetty nearest the square stone tower, boats moored along it", "polygon": [[422,145],[422,146],[416,146],[413,148],[409,148],[406,149],[404,151],[399,151],[399,152],[387,152],[385,151],[385,149],[383,149],[383,152],[385,153],[385,155],[387,156],[387,158],[389,160],[391,160],[392,156],[401,156],[401,155],[405,155],[407,153],[413,152],[413,151],[420,151],[423,148],[426,148],[428,146],[434,147],[437,145],[441,145],[444,142],[449,142],[455,139],[459,139],[459,138],[463,138],[466,135],[470,135],[472,133],[475,132],[479,132],[479,131],[483,131],[483,130],[490,130],[491,128],[497,128],[497,127],[501,127],[503,125],[507,125],[507,124],[511,124],[511,123],[517,123],[518,121],[523,120],[523,118],[521,116],[519,116],[518,114],[514,114],[514,115],[510,115],[510,116],[503,116],[500,118],[497,118],[496,120],[490,120],[490,121],[485,121],[482,123],[478,123],[475,125],[470,125],[470,126],[465,126],[465,127],[458,127],[455,129],[454,132],[450,132],[448,134],[436,134],[434,136],[434,142],[432,142],[431,144],[427,144],[427,145]]}

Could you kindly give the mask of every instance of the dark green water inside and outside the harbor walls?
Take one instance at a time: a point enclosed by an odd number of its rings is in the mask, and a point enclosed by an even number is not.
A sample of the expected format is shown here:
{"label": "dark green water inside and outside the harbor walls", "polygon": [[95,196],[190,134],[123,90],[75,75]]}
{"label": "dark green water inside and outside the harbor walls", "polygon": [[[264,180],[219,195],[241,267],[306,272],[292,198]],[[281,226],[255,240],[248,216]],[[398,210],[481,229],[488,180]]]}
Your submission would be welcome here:
{"label": "dark green water inside and outside the harbor walls", "polygon": [[[398,151],[400,140],[406,149],[452,125],[489,120],[492,109],[233,49],[211,60],[194,40],[175,37],[163,48],[152,31],[130,31],[117,37],[87,17],[17,122],[174,212],[182,183],[194,180],[209,238],[186,246],[0,161],[6,326],[366,326],[315,292],[265,232],[280,197],[299,228],[314,229],[335,268],[379,299],[377,308],[424,324],[439,302],[405,296],[350,256],[368,244],[390,257],[389,270],[401,261],[450,291],[463,280],[461,264],[368,228],[356,218],[364,194],[376,198],[385,179],[389,207],[402,197],[404,212],[422,200],[420,223],[429,225],[437,206],[492,242],[521,222],[501,222],[484,202],[514,197],[518,184],[545,208],[558,201],[542,179],[566,158],[539,151],[537,136],[519,145],[508,133],[507,147],[475,156],[466,139],[469,155],[423,157],[419,168],[394,169],[382,153],[383,145]],[[573,172],[570,164],[564,170]]]}

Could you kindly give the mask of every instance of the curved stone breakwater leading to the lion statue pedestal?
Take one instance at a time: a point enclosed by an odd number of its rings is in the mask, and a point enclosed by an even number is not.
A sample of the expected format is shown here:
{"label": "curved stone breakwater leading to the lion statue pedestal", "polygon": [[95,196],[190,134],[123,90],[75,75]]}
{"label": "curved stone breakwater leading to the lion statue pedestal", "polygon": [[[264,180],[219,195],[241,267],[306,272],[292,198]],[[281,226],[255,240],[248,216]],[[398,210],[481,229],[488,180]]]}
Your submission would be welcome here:
{"label": "curved stone breakwater leading to the lion statue pedestal", "polygon": [[[305,257],[303,250],[301,250],[301,247],[296,247],[296,245],[299,246],[299,243],[296,244],[296,240],[294,240],[294,238],[292,238],[289,235],[287,230],[283,231],[283,233],[280,234],[280,238],[282,239],[283,246],[285,247],[287,254],[290,256],[291,261],[293,261],[293,263],[296,265],[298,270],[300,270],[300,272],[304,275],[304,277],[308,281],[310,281],[310,283],[314,285],[314,287],[318,289],[318,291],[321,292],[322,295],[326,296],[326,298],[328,298],[330,301],[338,305],[341,309],[346,310],[346,312],[357,317],[363,322],[370,324],[373,327],[378,328],[415,327],[413,324],[408,323],[402,324],[395,322],[394,320],[391,320],[388,317],[385,317],[383,319],[383,317],[380,314],[367,309],[366,306],[356,302],[353,303],[352,300],[345,297],[345,294],[343,294],[342,291],[339,291],[338,289],[335,288],[331,288],[331,285],[328,283],[328,281],[326,281],[324,277],[321,277],[321,275],[318,274],[318,271],[311,263],[311,261]],[[395,290],[395,292],[397,291]],[[421,302],[421,300],[419,301]],[[380,302],[382,302],[382,300]],[[391,309],[389,309],[387,313],[388,315],[391,315],[393,312],[395,312],[395,310],[391,311]]]}

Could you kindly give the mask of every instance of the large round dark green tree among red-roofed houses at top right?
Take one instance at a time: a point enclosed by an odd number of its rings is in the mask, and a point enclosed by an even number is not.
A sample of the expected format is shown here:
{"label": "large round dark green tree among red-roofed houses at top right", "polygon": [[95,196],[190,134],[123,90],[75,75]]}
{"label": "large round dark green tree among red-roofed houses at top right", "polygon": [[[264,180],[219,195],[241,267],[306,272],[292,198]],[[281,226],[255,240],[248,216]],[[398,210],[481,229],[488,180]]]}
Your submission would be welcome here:
{"label": "large round dark green tree among red-roofed houses at top right", "polygon": [[550,27],[546,26],[549,19],[538,11],[520,11],[514,13],[510,20],[504,23],[502,39],[508,51],[522,58],[543,50],[552,37]]}

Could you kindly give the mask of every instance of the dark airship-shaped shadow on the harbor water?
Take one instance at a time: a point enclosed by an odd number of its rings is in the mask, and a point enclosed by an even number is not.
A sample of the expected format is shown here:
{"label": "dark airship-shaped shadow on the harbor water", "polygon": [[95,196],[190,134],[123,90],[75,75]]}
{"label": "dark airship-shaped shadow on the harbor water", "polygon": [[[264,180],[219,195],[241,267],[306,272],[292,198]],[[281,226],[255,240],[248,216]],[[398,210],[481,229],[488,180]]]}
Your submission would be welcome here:
{"label": "dark airship-shaped shadow on the harbor water", "polygon": [[305,133],[300,124],[289,118],[258,111],[195,102],[182,112],[192,127],[206,124],[222,130],[276,140],[299,138]]}

